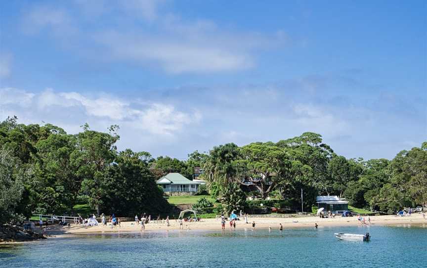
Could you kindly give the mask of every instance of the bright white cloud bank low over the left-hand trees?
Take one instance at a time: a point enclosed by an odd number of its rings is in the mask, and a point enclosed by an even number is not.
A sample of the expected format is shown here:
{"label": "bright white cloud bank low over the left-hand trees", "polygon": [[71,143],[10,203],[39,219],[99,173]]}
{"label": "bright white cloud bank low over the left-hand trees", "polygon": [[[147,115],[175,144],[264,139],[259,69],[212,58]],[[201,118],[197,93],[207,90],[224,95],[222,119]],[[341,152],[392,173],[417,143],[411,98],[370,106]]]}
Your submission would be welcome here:
{"label": "bright white cloud bank low over the left-hand trees", "polygon": [[74,126],[70,129],[76,129],[85,122],[95,125],[104,122],[105,126],[126,125],[131,131],[141,134],[173,136],[184,126],[197,124],[201,119],[197,111],[183,112],[170,104],[154,102],[141,106],[117,96],[104,94],[88,97],[77,92],[55,92],[53,89],[45,89],[39,94],[20,89],[0,89],[0,104],[3,117],[8,111],[13,111],[21,117],[34,118],[34,122],[53,120],[60,121],[60,126]]}

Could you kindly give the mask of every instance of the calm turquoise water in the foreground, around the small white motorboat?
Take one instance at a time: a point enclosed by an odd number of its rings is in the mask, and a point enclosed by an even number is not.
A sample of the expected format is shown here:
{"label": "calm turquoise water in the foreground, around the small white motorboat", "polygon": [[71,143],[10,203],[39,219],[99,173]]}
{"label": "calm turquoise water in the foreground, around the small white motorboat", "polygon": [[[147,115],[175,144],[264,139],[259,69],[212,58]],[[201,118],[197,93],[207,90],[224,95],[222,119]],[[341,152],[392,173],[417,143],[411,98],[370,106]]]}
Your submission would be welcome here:
{"label": "calm turquoise water in the foreground, around the small white motorboat", "polygon": [[[370,232],[370,242],[334,232]],[[82,235],[0,247],[0,267],[427,267],[427,226]],[[345,260],[345,261],[343,261]]]}

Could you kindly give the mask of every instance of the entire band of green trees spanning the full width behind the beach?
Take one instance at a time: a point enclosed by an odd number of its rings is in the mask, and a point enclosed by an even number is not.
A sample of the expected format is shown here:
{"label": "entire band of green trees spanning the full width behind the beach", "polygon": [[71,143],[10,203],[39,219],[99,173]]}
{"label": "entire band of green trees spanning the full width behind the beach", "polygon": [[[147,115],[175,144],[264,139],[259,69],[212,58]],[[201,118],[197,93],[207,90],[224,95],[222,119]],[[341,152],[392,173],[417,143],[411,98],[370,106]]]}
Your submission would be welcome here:
{"label": "entire band of green trees spanning the full width behind the beach", "polygon": [[156,179],[170,172],[193,179],[195,167],[227,211],[244,207],[248,182],[261,198],[285,199],[290,207],[300,206],[301,188],[306,208],[319,194],[372,211],[427,203],[427,142],[392,160],[365,161],[337,155],[320,134],[304,133],[276,143],[227,143],[179,160],[117,150],[118,129],[96,132],[85,124],[67,134],[51,124],[19,124],[16,117],[0,122],[0,222],[62,215],[82,202],[98,214],[168,212]]}

